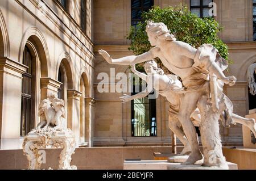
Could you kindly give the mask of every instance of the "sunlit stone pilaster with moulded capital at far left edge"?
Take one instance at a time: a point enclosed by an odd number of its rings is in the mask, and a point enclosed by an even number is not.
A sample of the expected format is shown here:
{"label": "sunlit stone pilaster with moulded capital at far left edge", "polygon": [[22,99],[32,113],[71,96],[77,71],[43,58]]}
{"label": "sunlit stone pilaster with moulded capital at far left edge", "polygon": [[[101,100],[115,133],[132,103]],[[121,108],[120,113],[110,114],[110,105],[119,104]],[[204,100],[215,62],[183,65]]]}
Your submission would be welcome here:
{"label": "sunlit stone pilaster with moulded capital at far left edge", "polygon": [[19,138],[22,74],[27,66],[0,58],[0,138]]}

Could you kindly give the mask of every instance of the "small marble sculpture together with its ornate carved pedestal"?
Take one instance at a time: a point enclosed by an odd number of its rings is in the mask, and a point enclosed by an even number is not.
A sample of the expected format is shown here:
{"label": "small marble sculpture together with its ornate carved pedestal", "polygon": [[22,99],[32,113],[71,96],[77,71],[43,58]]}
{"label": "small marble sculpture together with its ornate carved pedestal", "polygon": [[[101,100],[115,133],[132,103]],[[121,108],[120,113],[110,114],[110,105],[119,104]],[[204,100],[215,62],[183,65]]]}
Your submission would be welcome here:
{"label": "small marble sculpture together with its ornate carved pedestal", "polygon": [[[40,123],[24,138],[23,153],[28,159],[28,169],[40,169],[42,155],[39,149],[62,148],[59,155],[59,169],[76,170],[71,166],[71,155],[75,153],[76,141],[71,129],[67,128],[64,100],[56,94],[49,94],[39,104]],[[50,168],[51,169],[51,168]]]}

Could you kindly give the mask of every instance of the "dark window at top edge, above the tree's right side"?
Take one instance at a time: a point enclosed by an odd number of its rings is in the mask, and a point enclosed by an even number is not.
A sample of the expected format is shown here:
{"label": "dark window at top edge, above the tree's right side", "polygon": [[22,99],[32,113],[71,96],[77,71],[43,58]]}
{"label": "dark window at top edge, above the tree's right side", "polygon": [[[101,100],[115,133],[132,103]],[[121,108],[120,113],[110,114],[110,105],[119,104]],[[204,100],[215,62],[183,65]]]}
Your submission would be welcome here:
{"label": "dark window at top edge, above the tree's right side", "polygon": [[213,0],[191,0],[190,1],[190,11],[193,14],[196,14],[200,18],[212,17],[209,15],[209,3],[213,2]]}

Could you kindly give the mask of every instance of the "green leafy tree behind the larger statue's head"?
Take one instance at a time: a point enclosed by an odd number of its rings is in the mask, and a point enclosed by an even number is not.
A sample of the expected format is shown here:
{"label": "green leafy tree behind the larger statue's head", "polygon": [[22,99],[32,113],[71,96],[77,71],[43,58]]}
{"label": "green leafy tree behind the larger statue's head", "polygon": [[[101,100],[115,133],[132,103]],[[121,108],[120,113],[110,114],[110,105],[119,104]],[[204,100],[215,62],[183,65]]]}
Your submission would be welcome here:
{"label": "green leafy tree behind the larger statue's head", "polygon": [[[207,43],[212,44],[218,49],[221,56],[228,60],[228,46],[223,43],[217,33],[222,27],[213,18],[199,18],[188,10],[187,6],[165,7],[160,9],[154,6],[151,10],[143,12],[143,22],[139,23],[136,28],[131,26],[127,39],[131,40],[129,50],[134,54],[142,54],[150,50],[151,45],[148,41],[146,21],[162,22],[166,24],[170,33],[175,35],[179,41],[184,41],[194,48]],[[159,59],[157,59],[160,63]],[[163,66],[160,63],[160,66]],[[138,66],[141,69],[141,66]]]}

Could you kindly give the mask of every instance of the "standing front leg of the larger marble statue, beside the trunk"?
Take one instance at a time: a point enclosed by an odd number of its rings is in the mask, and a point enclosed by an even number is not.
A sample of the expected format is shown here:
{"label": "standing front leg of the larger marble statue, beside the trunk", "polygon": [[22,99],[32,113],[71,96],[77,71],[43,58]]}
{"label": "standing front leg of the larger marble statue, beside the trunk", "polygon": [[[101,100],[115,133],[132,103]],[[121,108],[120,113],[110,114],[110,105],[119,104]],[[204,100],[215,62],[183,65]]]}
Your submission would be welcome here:
{"label": "standing front leg of the larger marble statue, beside the trunk", "polygon": [[189,145],[191,146],[191,155],[188,157],[187,161],[182,163],[182,165],[192,165],[203,158],[199,143],[197,142],[196,128],[190,118],[191,113],[196,109],[197,100],[201,94],[201,91],[187,92],[181,101],[178,118],[183,127],[185,136],[188,139]]}

